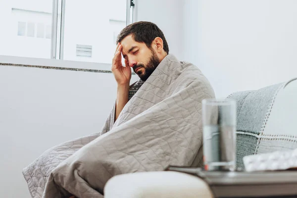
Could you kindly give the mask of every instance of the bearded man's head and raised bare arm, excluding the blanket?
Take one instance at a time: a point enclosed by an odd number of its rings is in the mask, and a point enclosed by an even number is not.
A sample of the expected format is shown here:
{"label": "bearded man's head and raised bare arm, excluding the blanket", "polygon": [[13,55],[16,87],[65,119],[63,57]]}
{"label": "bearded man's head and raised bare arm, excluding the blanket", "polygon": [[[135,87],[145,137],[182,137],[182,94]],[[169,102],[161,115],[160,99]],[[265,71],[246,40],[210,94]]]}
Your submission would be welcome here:
{"label": "bearded man's head and raised bare arm, excluding the blanket", "polygon": [[[127,26],[119,34],[117,44],[111,67],[118,84],[115,120],[128,102],[130,67],[142,81],[146,81],[169,52],[162,31],[150,22],[138,22]],[[121,54],[125,58],[126,67],[122,66]]]}

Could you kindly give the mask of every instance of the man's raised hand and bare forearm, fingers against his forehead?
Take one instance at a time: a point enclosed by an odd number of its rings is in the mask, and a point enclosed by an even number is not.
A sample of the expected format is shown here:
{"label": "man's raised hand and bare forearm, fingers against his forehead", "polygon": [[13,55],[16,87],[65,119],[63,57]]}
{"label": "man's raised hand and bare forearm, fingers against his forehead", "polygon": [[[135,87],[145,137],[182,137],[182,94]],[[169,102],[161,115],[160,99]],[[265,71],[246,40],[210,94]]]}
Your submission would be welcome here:
{"label": "man's raised hand and bare forearm, fingers against his forehead", "polygon": [[123,110],[124,106],[128,102],[129,97],[129,84],[131,80],[131,68],[125,60],[125,67],[122,65],[122,46],[120,43],[117,45],[116,52],[112,59],[111,71],[114,75],[114,78],[117,82],[117,97],[115,104],[115,117],[114,121],[117,120],[119,114]]}

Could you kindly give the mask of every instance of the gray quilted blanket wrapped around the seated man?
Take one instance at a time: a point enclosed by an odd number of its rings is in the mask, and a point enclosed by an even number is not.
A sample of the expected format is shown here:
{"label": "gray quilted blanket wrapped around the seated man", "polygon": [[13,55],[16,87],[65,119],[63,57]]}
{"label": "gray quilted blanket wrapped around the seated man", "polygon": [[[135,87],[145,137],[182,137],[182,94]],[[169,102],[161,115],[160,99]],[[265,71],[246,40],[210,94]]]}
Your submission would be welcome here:
{"label": "gray quilted blanket wrapped around the seated man", "polygon": [[100,134],[50,148],[23,170],[34,198],[103,198],[114,175],[202,164],[201,101],[214,92],[200,70],[167,55]]}

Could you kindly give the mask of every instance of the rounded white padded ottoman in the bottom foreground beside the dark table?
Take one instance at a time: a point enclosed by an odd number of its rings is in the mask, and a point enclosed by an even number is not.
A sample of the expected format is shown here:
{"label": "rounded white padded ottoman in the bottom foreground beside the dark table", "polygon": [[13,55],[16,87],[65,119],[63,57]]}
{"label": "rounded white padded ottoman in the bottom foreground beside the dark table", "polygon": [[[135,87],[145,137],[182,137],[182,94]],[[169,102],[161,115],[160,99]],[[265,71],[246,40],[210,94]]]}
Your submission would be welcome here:
{"label": "rounded white padded ottoman in the bottom foreground beside the dark table", "polygon": [[208,185],[193,175],[141,172],[117,175],[105,185],[104,198],[212,198]]}

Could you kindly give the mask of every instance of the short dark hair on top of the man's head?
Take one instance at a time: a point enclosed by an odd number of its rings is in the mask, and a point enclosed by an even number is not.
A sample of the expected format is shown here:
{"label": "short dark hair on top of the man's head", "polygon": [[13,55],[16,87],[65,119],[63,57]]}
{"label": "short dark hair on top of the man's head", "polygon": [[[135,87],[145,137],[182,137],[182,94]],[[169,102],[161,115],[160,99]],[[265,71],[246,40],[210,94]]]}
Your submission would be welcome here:
{"label": "short dark hair on top of the man's head", "polygon": [[140,21],[126,26],[118,35],[116,43],[120,43],[125,37],[132,35],[132,38],[139,43],[145,43],[151,49],[151,43],[156,37],[163,40],[163,49],[169,53],[167,41],[163,32],[154,23]]}

